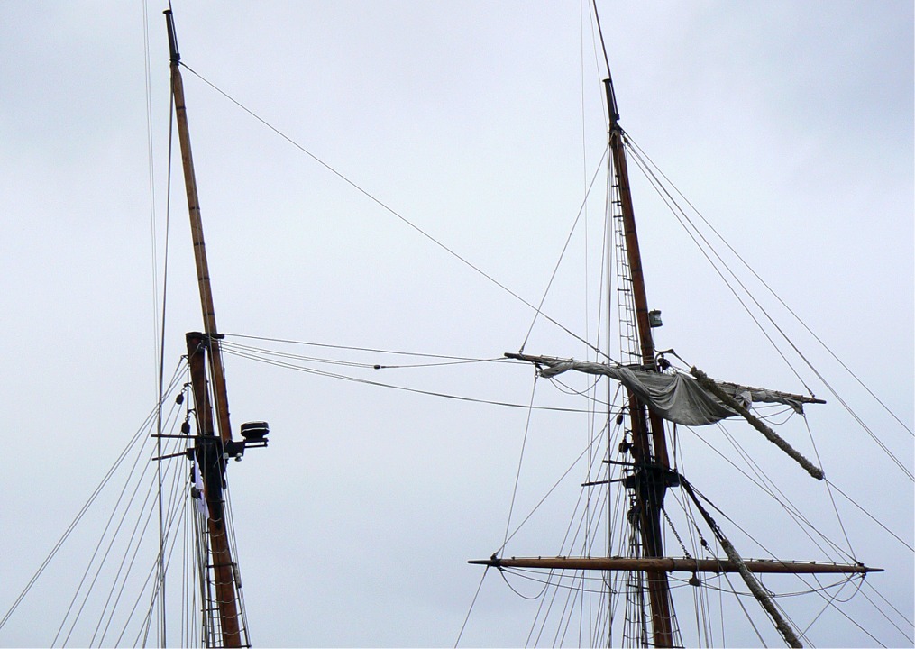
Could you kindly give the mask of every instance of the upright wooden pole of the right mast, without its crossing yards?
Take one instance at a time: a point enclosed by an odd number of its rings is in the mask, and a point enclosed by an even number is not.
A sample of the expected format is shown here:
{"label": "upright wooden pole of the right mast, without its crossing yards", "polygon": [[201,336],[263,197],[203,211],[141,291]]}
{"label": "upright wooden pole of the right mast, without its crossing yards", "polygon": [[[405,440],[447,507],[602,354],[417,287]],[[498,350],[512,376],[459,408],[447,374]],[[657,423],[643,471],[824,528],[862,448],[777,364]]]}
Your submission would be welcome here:
{"label": "upright wooden pole of the right mast, without its crossing yards", "polygon": [[[635,303],[636,329],[639,333],[641,362],[648,370],[657,370],[654,361],[654,341],[651,337],[651,323],[648,317],[648,298],[645,295],[645,278],[641,272],[641,254],[639,236],[635,227],[635,211],[632,208],[629,171],[626,166],[626,151],[623,146],[622,128],[619,126],[616,95],[613,92],[613,81],[604,80],[607,92],[609,114],[609,146],[613,154],[613,168],[619,189],[619,207],[622,212],[623,238],[626,242],[627,261],[632,281],[632,297]],[[660,416],[650,412],[640,403],[638,397],[630,392],[630,422],[632,427],[632,456],[636,464],[649,467],[658,466],[663,470],[670,468],[667,457],[667,439],[664,424]],[[650,425],[650,426],[649,426]],[[651,439],[651,444],[649,443]],[[653,447],[653,456],[651,449]],[[646,557],[663,557],[663,537],[661,534],[661,511],[664,502],[666,485],[663,481],[651,479],[652,471],[644,471],[644,478],[637,482],[635,507],[638,510],[638,525],[642,540],[642,552]],[[651,628],[654,645],[671,647],[673,640],[673,603],[667,573],[660,570],[646,570],[648,597],[651,606]]]}

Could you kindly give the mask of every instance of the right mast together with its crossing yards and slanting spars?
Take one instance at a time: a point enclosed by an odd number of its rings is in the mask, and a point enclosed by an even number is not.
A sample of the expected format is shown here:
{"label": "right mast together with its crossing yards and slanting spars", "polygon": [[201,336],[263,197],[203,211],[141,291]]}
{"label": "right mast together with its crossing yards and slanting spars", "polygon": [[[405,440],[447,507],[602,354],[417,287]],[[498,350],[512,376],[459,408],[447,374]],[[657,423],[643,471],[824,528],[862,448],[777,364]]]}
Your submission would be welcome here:
{"label": "right mast together with its crossing yards and slanting spars", "polygon": [[[599,20],[597,21],[597,31],[600,32]],[[606,57],[606,55],[605,55]],[[652,321],[651,311],[648,308],[648,299],[645,292],[645,280],[641,268],[641,255],[639,250],[639,237],[636,231],[635,214],[632,208],[632,197],[630,193],[629,172],[626,164],[626,143],[625,134],[619,126],[619,111],[617,109],[616,97],[613,90],[613,81],[609,77],[604,81],[608,105],[608,146],[613,159],[614,184],[617,190],[617,200],[615,205],[619,206],[619,216],[622,222],[622,239],[625,248],[626,259],[623,260],[629,270],[629,276],[624,276],[622,280],[626,283],[624,287],[630,292],[632,298],[632,307],[635,310],[635,327],[637,333],[637,351],[632,352],[636,356],[635,364],[639,368],[627,367],[621,368],[615,363],[613,370],[625,369],[627,373],[641,374],[658,373],[662,371],[661,363],[655,356],[654,341],[651,333],[652,326],[660,325],[660,322]],[[615,213],[614,216],[617,216]],[[671,470],[668,458],[667,441],[664,430],[664,419],[659,412],[663,413],[673,422],[684,423],[692,426],[698,421],[697,425],[713,423],[716,419],[702,421],[694,420],[692,416],[681,416],[678,418],[667,404],[659,404],[653,400],[651,391],[647,388],[639,390],[638,381],[628,381],[619,375],[619,372],[611,372],[611,366],[602,366],[597,362],[576,362],[575,359],[563,359],[552,356],[534,356],[524,353],[506,353],[505,356],[511,359],[517,359],[525,362],[533,362],[540,370],[543,376],[554,376],[556,373],[565,372],[567,369],[576,369],[580,372],[596,375],[608,375],[616,378],[626,387],[629,410],[629,430],[627,434],[631,436],[631,444],[620,444],[619,452],[631,452],[631,462],[612,462],[614,464],[625,464],[630,467],[630,473],[621,480],[587,482],[583,486],[594,484],[603,484],[608,482],[621,482],[622,485],[631,490],[630,510],[627,518],[632,528],[640,540],[640,547],[636,548],[635,556],[632,557],[498,557],[493,554],[488,559],[479,559],[469,561],[471,564],[490,566],[493,568],[536,568],[549,570],[583,570],[599,571],[602,573],[625,571],[639,572],[645,575],[647,590],[649,596],[649,606],[651,610],[651,634],[644,629],[641,633],[640,641],[644,646],[672,647],[679,640],[679,628],[676,625],[673,611],[673,600],[671,598],[670,584],[668,582],[668,573],[671,572],[692,572],[693,579],[690,584],[694,586],[702,585],[696,578],[698,573],[705,574],[722,574],[738,573],[741,579],[747,584],[750,593],[755,597],[760,606],[766,611],[776,629],[781,633],[785,643],[791,647],[801,647],[800,634],[796,633],[779,611],[778,607],[772,601],[770,593],[763,588],[755,574],[764,573],[781,573],[781,574],[845,574],[845,575],[865,575],[868,572],[881,571],[882,568],[868,568],[860,563],[853,564],[834,564],[824,563],[823,561],[784,561],[780,559],[744,559],[737,553],[737,549],[731,544],[724,534],[723,530],[716,524],[715,520],[706,510],[705,505],[694,488],[686,480],[685,476],[675,470]],[[567,365],[566,367],[562,367]],[[601,369],[603,368],[603,369]],[[604,371],[607,370],[607,371]],[[549,371],[549,373],[547,373]],[[823,471],[816,467],[809,460],[806,460],[795,449],[791,449],[783,439],[766,427],[759,419],[752,416],[748,409],[738,403],[732,396],[727,394],[728,388],[737,388],[741,393],[745,390],[748,393],[759,391],[766,393],[767,396],[754,400],[768,401],[771,395],[780,395],[789,401],[782,403],[825,403],[821,399],[816,399],[805,395],[791,395],[780,391],[759,390],[744,385],[730,384],[727,382],[716,382],[709,379],[705,373],[693,368],[691,375],[701,389],[705,390],[708,395],[718,400],[718,403],[729,408],[730,415],[740,415],[756,427],[759,432],[763,433],[773,444],[784,450],[792,459],[798,461],[802,467],[808,471],[813,478],[823,480]],[[669,377],[673,379],[674,377]],[[651,377],[651,383],[654,379],[663,382],[662,376],[654,375]],[[644,400],[643,400],[644,399]],[[651,400],[651,408],[646,400]],[[779,399],[776,399],[778,401]],[[622,418],[618,423],[622,423]],[[716,541],[724,550],[726,557],[666,557],[663,547],[662,536],[662,516],[664,496],[668,488],[680,487],[684,494],[694,503],[695,510],[701,514],[705,524],[716,537]],[[664,516],[666,517],[666,516]],[[676,532],[674,531],[674,534]],[[703,541],[705,546],[705,541]],[[684,548],[685,550],[685,548]]]}

